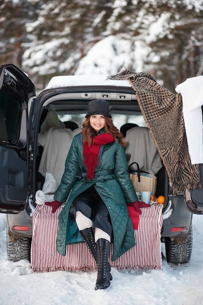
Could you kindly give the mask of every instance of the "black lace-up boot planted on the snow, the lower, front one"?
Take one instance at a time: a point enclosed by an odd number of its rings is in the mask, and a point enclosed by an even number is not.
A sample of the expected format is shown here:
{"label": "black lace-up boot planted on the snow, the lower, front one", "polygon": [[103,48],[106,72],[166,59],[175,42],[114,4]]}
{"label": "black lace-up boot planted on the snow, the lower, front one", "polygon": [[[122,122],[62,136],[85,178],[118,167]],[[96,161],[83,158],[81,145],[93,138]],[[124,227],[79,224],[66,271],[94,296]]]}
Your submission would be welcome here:
{"label": "black lace-up boot planted on the snow, the lower, front one", "polygon": [[111,273],[109,264],[110,242],[104,238],[100,238],[96,242],[96,255],[97,255],[97,280],[95,290],[106,289],[111,284]]}

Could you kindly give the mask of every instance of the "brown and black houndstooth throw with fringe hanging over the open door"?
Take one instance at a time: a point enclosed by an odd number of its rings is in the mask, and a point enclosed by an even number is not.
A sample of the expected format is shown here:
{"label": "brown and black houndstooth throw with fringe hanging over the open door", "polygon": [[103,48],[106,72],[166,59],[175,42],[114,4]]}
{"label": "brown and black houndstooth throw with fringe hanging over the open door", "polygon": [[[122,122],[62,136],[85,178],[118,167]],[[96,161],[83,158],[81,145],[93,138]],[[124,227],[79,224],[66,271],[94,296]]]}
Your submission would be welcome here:
{"label": "brown and black houndstooth throw with fringe hanging over the open door", "polygon": [[124,70],[109,78],[129,80],[174,191],[202,187],[199,164],[191,164],[188,152],[182,95],[174,95],[150,74]]}

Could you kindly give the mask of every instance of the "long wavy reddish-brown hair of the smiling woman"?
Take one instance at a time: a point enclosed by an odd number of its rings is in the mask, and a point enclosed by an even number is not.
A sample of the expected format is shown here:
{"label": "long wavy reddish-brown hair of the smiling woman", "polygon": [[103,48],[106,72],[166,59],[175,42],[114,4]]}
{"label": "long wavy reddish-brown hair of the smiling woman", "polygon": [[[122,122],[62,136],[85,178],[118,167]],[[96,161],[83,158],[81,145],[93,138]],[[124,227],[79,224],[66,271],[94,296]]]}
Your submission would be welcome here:
{"label": "long wavy reddish-brown hair of the smiling woman", "polygon": [[[123,134],[119,132],[118,128],[113,125],[112,118],[104,115],[105,118],[105,132],[112,134],[114,140],[117,142],[120,141],[120,144],[124,147],[127,147],[127,143],[123,139]],[[90,125],[90,116],[82,123],[82,135],[84,141],[88,142],[89,147],[92,145],[93,139],[92,136],[95,135],[95,130]]]}

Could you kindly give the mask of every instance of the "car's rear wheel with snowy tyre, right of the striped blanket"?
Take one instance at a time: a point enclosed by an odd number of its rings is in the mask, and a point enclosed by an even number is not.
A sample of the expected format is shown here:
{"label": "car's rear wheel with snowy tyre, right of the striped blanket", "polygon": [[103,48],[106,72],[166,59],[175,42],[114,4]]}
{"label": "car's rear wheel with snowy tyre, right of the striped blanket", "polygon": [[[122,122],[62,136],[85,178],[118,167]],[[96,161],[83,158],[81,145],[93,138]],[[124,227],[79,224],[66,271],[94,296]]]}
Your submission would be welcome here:
{"label": "car's rear wheel with snowy tyre, right of the striped blanket", "polygon": [[166,260],[172,264],[188,263],[192,254],[192,225],[185,236],[165,239]]}

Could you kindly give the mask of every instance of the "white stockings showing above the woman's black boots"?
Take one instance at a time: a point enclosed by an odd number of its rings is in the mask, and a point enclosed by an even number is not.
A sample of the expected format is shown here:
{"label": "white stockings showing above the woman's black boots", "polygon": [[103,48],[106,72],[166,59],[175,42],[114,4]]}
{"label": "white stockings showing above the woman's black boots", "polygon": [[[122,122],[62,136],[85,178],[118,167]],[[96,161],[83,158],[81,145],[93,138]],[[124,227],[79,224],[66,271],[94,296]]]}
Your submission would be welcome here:
{"label": "white stockings showing above the woman's black boots", "polygon": [[[75,222],[77,224],[77,227],[78,227],[79,231],[87,229],[87,228],[91,228],[92,225],[93,225],[92,220],[90,218],[86,217],[80,211],[76,211]],[[94,239],[95,239],[95,242],[99,238],[104,238],[104,239],[108,240],[109,242],[111,242],[111,237],[110,237],[109,234],[107,234],[102,229],[94,228]]]}

